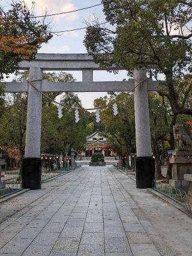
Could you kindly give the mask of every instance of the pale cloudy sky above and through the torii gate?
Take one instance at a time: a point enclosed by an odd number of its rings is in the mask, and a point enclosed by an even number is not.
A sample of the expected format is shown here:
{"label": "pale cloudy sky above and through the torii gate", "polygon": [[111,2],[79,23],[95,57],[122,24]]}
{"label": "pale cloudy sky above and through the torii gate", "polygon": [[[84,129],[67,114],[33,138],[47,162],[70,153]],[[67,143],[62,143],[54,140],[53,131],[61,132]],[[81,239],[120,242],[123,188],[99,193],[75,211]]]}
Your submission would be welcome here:
{"label": "pale cloudy sky above and through the torii gate", "polygon": [[[10,8],[10,0],[0,0],[0,4],[5,6],[5,10]],[[25,0],[30,7],[32,0]],[[63,11],[72,11],[79,8],[89,7],[91,5],[100,4],[100,0],[36,0],[35,14],[42,15],[61,13]],[[8,6],[7,6],[8,5]],[[50,21],[52,31],[64,31],[74,28],[82,28],[85,25],[85,20],[92,20],[94,14],[104,22],[104,14],[102,5],[87,10],[78,11],[75,13],[61,14],[54,16]],[[52,40],[38,51],[40,53],[87,53],[85,46],[83,46],[83,38],[85,30],[65,32],[58,36],[54,35]],[[77,81],[82,81],[81,72],[70,72]],[[118,75],[109,72],[94,72],[94,81],[122,81],[127,78],[127,72],[121,71]],[[106,93],[78,93],[84,108],[92,108],[94,99],[106,95]],[[59,100],[59,99],[57,99]]]}

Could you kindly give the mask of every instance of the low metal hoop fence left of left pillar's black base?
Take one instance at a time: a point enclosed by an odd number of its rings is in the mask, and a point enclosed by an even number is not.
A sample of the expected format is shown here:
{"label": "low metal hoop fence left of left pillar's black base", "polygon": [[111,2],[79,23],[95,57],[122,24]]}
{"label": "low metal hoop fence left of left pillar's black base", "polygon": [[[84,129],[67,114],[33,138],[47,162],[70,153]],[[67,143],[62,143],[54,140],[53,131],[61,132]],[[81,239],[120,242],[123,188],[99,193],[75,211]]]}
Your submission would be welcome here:
{"label": "low metal hoop fence left of left pillar's black base", "polygon": [[0,199],[13,195],[22,190],[22,181],[14,181],[5,184],[4,189],[0,189]]}

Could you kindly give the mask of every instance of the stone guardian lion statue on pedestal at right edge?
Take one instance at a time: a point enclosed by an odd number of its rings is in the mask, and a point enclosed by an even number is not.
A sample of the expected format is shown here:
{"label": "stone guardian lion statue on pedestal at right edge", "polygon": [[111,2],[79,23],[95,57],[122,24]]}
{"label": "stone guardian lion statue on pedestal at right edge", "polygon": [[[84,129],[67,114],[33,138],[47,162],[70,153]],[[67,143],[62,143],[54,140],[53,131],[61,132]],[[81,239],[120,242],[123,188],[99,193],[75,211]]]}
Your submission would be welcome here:
{"label": "stone guardian lion statue on pedestal at right edge", "polygon": [[184,126],[182,124],[175,124],[173,126],[173,133],[178,149],[192,147],[192,139],[184,132]]}

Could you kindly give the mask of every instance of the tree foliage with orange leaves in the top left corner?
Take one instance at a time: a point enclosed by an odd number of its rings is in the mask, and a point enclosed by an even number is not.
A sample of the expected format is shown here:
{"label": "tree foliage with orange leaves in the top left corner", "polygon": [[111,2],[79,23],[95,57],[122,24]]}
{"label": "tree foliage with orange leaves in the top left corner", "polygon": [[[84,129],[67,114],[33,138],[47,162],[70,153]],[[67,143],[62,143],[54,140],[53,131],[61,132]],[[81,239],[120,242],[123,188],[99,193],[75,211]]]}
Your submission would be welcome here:
{"label": "tree foliage with orange leaves in the top left corner", "polygon": [[15,72],[23,59],[34,59],[41,44],[52,38],[44,19],[31,19],[32,10],[23,1],[12,3],[7,12],[0,7],[0,79]]}

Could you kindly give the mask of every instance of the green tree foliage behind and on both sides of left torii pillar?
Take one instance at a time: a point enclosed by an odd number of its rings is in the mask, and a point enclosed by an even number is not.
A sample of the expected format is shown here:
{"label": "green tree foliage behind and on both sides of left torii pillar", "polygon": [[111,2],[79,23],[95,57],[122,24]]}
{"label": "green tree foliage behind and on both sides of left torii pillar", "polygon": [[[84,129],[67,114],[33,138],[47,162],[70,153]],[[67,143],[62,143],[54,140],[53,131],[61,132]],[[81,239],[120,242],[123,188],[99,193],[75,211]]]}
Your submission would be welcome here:
{"label": "green tree foliage behind and on both sides of left torii pillar", "polygon": [[[48,81],[74,81],[69,73],[43,73],[43,78]],[[22,73],[17,81],[28,79],[28,72]],[[54,100],[58,94],[48,94]],[[0,102],[2,100],[2,114],[0,112],[0,145],[19,145],[20,154],[25,152],[26,132],[26,110],[27,94],[13,94],[13,99],[4,98],[0,91]],[[87,112],[80,111],[80,121],[76,123],[74,109],[81,108],[82,103],[76,94],[66,93],[61,102],[67,107],[64,108],[64,116],[58,118],[58,108],[44,97],[42,108],[41,125],[41,151],[46,153],[60,153],[71,151],[73,147],[77,152],[83,148],[86,136],[92,133],[93,126],[88,125]]]}

